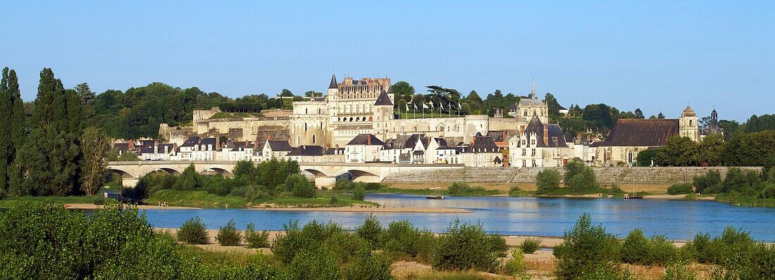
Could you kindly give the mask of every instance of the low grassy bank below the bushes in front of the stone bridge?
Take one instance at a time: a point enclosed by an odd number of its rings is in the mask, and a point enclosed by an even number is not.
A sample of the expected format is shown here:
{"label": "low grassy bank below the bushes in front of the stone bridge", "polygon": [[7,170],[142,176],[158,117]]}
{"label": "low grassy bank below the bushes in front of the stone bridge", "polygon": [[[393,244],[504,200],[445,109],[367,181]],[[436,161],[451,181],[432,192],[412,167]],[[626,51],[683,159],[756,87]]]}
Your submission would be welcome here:
{"label": "low grassy bank below the bushes in front of the stone bridge", "polygon": [[[333,191],[319,191],[316,195],[317,197],[314,198],[301,198],[284,194],[279,197],[249,200],[242,196],[218,196],[205,191],[160,190],[146,199],[145,203],[154,205],[159,201],[164,201],[170,206],[197,208],[226,208],[226,204],[229,204],[229,208],[248,208],[257,207],[263,203],[290,207],[349,207],[353,206],[353,204],[379,205],[369,201],[353,200],[348,194]],[[331,196],[336,196],[338,200],[336,204],[330,203]]]}

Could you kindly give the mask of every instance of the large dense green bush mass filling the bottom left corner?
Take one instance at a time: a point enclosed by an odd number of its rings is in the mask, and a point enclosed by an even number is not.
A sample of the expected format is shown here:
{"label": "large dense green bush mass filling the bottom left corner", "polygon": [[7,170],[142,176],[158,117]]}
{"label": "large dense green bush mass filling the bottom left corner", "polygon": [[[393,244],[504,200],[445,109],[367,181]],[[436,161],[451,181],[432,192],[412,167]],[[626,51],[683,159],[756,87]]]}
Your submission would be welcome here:
{"label": "large dense green bush mass filling the bottom left corner", "polygon": [[0,275],[6,279],[177,278],[170,269],[182,269],[176,246],[136,208],[122,205],[87,215],[25,201],[0,213]]}

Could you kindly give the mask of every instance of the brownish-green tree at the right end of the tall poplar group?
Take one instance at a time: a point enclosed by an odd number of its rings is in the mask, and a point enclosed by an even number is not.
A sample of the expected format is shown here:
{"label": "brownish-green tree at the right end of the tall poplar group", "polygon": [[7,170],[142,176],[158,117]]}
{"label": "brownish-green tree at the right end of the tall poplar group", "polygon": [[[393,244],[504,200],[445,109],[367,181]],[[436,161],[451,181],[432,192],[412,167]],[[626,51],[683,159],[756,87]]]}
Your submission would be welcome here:
{"label": "brownish-green tree at the right end of the tall poplar group", "polygon": [[107,171],[106,155],[110,143],[99,128],[86,128],[81,135],[81,190],[91,196],[105,181]]}

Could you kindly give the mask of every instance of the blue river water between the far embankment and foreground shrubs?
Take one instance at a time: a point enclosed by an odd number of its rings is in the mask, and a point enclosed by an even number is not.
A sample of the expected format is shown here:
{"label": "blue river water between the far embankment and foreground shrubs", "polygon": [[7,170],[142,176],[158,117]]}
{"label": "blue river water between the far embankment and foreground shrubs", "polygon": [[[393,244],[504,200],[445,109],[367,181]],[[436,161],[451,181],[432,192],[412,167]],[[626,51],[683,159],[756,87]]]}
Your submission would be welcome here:
{"label": "blue river water between the far embankment and foreground shrubs", "polygon": [[[735,207],[714,201],[622,200],[536,198],[507,196],[446,197],[426,200],[425,196],[370,194],[366,200],[387,207],[441,207],[472,210],[471,213],[374,213],[383,226],[392,220],[409,220],[415,227],[443,232],[456,218],[462,222],[480,221],[490,233],[506,235],[562,236],[583,213],[593,224],[602,224],[609,233],[625,237],[638,227],[644,234],[664,234],[672,240],[691,240],[694,234],[721,234],[724,227],[749,231],[759,241],[775,242],[775,208]],[[210,229],[218,229],[233,219],[237,227],[255,223],[257,229],[282,230],[283,224],[298,220],[332,220],[346,228],[363,224],[368,213],[265,210],[146,210],[154,227],[181,227],[185,220],[200,217]]]}

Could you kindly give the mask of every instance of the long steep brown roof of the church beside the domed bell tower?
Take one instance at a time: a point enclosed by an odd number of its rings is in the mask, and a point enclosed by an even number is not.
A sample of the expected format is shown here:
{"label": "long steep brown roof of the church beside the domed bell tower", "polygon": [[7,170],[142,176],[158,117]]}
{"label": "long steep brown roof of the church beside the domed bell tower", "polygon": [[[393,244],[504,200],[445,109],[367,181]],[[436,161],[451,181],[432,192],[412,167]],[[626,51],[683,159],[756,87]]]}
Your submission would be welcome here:
{"label": "long steep brown roof of the church beside the domed bell tower", "polygon": [[660,147],[667,138],[677,136],[678,120],[663,119],[619,119],[603,142],[592,147]]}

